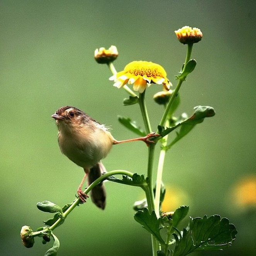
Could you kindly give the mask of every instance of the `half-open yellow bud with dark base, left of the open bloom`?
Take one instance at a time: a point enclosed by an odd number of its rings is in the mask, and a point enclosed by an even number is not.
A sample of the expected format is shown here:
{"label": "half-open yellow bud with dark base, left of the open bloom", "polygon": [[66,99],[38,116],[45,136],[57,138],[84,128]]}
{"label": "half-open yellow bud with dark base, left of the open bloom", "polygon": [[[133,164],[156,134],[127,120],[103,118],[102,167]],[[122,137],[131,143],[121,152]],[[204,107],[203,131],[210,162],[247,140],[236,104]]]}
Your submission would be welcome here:
{"label": "half-open yellow bud with dark base, left of the open bloom", "polygon": [[104,47],[96,49],[94,52],[95,60],[100,64],[106,64],[114,61],[118,56],[117,47],[114,45],[110,46],[108,50]]}

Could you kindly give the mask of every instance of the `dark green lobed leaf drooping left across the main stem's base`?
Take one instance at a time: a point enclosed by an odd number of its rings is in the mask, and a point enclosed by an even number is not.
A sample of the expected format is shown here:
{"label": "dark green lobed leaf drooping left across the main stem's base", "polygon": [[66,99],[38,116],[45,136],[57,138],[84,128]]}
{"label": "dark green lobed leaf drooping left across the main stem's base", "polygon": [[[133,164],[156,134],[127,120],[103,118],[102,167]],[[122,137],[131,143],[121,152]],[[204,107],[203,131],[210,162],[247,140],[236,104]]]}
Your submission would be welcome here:
{"label": "dark green lobed leaf drooping left across the main stem's base", "polygon": [[153,234],[153,236],[156,237],[160,244],[166,245],[160,235],[161,227],[159,228],[159,226],[161,218],[157,219],[154,211],[150,214],[149,210],[144,208],[143,211],[140,210],[134,214],[134,219],[149,233]]}

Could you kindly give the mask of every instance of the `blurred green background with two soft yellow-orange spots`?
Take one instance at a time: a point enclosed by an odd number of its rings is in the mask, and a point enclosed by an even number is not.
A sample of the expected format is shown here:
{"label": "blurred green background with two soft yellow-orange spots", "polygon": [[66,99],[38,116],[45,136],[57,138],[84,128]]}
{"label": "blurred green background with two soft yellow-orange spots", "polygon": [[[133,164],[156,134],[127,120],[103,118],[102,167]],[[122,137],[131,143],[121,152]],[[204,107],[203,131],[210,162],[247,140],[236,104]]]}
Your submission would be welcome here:
{"label": "blurred green background with two soft yellow-orange spots", "polygon": [[[78,107],[111,125],[120,140],[134,134],[117,115],[142,124],[138,106],[122,105],[127,95],[112,86],[94,50],[117,46],[118,71],[133,60],[159,63],[175,85],[186,47],[174,31],[184,25],[200,28],[203,39],[193,48],[198,64],[181,87],[177,114],[210,105],[216,115],[168,151],[165,210],[186,204],[192,217],[220,214],[236,225],[231,248],[193,255],[255,255],[255,11],[255,1],[0,1],[1,255],[44,255],[51,244],[37,237],[27,249],[20,229],[36,230],[51,217],[36,202],[72,202],[83,176],[59,151],[56,109]],[[146,95],[153,127],[162,112],[151,100],[159,88],[152,85]],[[134,142],[114,146],[103,163],[146,173],[146,159],[145,145]],[[88,200],[56,229],[59,256],[151,255],[150,236],[133,219],[142,191],[106,187],[104,211]]]}

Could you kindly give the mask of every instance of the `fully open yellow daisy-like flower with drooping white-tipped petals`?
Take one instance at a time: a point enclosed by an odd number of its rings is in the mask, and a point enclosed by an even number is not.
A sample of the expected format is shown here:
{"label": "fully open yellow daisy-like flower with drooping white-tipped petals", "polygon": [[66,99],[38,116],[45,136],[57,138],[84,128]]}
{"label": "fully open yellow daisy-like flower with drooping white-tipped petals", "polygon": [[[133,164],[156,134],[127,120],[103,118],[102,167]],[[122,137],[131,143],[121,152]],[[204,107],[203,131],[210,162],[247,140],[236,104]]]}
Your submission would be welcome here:
{"label": "fully open yellow daisy-like flower with drooping white-tipped petals", "polygon": [[165,90],[169,90],[171,85],[164,68],[149,61],[132,61],[124,67],[123,71],[111,76],[109,80],[114,80],[114,86],[117,88],[121,88],[126,83],[133,84],[133,90],[139,93],[144,92],[147,84],[163,84]]}

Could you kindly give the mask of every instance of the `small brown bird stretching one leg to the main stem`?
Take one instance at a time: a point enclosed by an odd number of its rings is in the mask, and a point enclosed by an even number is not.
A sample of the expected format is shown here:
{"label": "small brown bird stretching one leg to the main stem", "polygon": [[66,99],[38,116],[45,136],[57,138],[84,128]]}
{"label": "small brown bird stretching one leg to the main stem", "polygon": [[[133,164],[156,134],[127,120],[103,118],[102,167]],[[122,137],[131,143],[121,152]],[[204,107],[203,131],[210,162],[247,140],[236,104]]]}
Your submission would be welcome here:
{"label": "small brown bird stretching one leg to the main stem", "polygon": [[[141,138],[117,141],[105,125],[71,106],[59,108],[51,117],[56,120],[58,126],[58,144],[61,152],[85,171],[77,189],[82,203],[86,202],[88,197],[81,189],[86,176],[88,175],[88,184],[91,184],[106,172],[101,159],[107,156],[113,144],[129,141],[144,141],[149,144],[153,142],[149,138],[158,136],[150,133]],[[91,196],[95,205],[101,209],[105,208],[106,194],[102,183],[91,190]]]}

